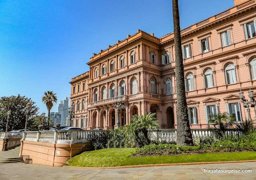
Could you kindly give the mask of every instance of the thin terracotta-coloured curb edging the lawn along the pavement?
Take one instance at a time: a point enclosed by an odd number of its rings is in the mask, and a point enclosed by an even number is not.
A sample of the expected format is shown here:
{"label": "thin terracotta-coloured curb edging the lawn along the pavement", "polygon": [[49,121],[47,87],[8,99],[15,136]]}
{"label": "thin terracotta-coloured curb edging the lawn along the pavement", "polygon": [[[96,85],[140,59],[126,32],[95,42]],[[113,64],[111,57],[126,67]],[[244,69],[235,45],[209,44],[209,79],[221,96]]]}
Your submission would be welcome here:
{"label": "thin terracotta-coloured curb edging the lawn along the pavement", "polygon": [[220,162],[186,162],[186,163],[173,163],[173,164],[144,164],[144,165],[133,165],[133,166],[117,166],[117,167],[79,167],[79,166],[62,166],[66,168],[79,168],[79,169],[122,169],[122,168],[144,168],[144,167],[156,167],[156,166],[182,166],[182,165],[199,165],[199,164],[224,164],[224,163],[238,163],[238,162],[256,162],[256,160],[245,160],[245,161],[220,161]]}

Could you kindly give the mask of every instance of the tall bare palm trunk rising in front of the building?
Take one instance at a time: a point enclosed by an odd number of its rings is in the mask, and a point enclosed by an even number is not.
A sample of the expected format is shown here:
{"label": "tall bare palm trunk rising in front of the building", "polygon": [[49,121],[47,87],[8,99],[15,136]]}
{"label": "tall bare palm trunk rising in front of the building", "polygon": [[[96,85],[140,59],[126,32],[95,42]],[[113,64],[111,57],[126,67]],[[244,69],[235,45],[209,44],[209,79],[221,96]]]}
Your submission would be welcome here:
{"label": "tall bare palm trunk rising in front of the building", "polygon": [[173,26],[174,26],[174,48],[175,48],[175,75],[177,91],[177,145],[191,146],[193,139],[189,128],[187,113],[187,100],[185,94],[184,67],[181,51],[181,37],[179,26],[178,0],[172,0]]}

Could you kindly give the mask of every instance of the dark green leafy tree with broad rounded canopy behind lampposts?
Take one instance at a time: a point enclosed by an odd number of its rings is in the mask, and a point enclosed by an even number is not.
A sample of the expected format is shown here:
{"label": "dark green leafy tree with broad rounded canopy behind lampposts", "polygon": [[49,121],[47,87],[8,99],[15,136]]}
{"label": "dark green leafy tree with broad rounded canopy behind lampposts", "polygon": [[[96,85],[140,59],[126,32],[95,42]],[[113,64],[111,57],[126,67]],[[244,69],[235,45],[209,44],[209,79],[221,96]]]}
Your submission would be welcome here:
{"label": "dark green leafy tree with broad rounded canopy behind lampposts", "polygon": [[26,105],[30,103],[32,106],[28,113],[28,123],[30,123],[30,117],[38,114],[38,107],[35,106],[35,102],[31,98],[25,96],[10,96],[0,98],[0,129],[6,130],[7,112],[10,110],[8,131],[24,129],[26,124]]}

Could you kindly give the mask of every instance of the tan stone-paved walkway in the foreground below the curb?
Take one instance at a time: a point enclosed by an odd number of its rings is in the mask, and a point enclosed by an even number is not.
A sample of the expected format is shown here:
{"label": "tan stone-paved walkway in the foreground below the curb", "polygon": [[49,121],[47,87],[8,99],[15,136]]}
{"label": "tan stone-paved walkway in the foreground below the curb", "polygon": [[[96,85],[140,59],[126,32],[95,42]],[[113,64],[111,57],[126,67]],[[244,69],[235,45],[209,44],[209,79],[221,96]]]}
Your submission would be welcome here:
{"label": "tan stone-paved walkway in the foreground below the curb", "polygon": [[[206,169],[251,169],[250,173],[204,173]],[[38,164],[0,164],[0,179],[256,179],[256,162],[158,166],[123,169],[79,169]]]}

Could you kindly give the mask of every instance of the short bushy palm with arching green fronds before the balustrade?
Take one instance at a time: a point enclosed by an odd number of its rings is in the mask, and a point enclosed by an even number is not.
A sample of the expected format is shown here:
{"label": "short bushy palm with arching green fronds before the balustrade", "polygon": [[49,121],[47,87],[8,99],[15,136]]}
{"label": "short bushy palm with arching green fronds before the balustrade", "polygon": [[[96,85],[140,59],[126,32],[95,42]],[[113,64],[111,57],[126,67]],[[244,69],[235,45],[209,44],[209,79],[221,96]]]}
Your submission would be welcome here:
{"label": "short bushy palm with arching green fronds before the balustrade", "polygon": [[133,115],[130,127],[133,130],[135,136],[139,139],[140,144],[143,146],[143,141],[139,137],[139,133],[142,132],[147,140],[147,144],[150,144],[148,137],[148,129],[159,128],[159,122],[155,117],[155,113],[146,113],[145,115],[139,116],[138,114]]}

